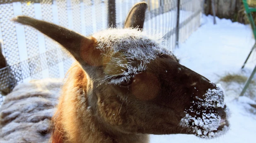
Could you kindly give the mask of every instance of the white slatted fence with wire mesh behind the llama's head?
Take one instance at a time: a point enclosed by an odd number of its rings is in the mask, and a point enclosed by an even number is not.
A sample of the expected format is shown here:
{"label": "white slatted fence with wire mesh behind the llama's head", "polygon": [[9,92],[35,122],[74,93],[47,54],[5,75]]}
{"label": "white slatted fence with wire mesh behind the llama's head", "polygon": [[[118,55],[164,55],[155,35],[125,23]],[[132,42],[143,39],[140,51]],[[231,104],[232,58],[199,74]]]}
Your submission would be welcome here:
{"label": "white slatted fence with wire mesh behind the llama's head", "polygon": [[0,0],[0,41],[7,62],[0,69],[0,91],[8,93],[31,79],[63,78],[73,62],[51,39],[10,19],[28,15],[90,35],[123,26],[128,10],[140,1],[148,4],[145,31],[162,34],[170,50],[200,26],[203,0]]}

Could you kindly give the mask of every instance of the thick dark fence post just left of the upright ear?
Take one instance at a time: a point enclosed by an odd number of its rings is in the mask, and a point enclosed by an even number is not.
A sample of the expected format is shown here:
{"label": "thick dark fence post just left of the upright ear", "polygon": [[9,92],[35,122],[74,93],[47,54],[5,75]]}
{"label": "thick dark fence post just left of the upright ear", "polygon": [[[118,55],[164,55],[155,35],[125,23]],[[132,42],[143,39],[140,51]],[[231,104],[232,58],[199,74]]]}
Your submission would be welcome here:
{"label": "thick dark fence post just left of the upright ear", "polygon": [[108,23],[109,26],[116,26],[116,0],[108,0]]}

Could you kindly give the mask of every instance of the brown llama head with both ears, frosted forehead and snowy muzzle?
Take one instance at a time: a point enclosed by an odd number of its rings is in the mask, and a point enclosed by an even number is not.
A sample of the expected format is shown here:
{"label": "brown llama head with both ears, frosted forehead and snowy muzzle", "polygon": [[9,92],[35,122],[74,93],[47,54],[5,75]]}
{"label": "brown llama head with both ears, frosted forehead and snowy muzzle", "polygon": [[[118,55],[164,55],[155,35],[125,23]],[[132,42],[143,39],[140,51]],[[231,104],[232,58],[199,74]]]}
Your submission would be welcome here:
{"label": "brown llama head with both ears, frosted forehead and snowy muzzle", "polygon": [[80,63],[88,79],[87,110],[106,129],[202,138],[222,134],[228,122],[221,86],[182,66],[161,37],[142,31],[146,9],[145,2],[136,4],[125,28],[91,37],[27,16],[13,20],[52,38]]}

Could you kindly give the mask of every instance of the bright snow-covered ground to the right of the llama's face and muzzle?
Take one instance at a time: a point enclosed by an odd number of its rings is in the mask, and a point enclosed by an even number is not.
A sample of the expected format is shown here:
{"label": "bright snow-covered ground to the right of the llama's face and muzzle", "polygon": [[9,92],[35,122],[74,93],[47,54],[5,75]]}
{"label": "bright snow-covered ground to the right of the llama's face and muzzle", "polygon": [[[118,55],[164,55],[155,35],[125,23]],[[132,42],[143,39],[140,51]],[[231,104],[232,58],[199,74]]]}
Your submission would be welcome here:
{"label": "bright snow-covered ground to the right of the llama's face and muzzle", "polygon": [[[204,16],[202,26],[176,49],[174,53],[181,64],[216,82],[218,75],[239,73],[241,66],[254,45],[251,28],[248,25],[232,23],[227,19]],[[245,70],[252,71],[256,65],[256,52],[251,55]],[[247,97],[233,99],[238,95],[226,95],[231,110],[230,130],[215,139],[202,139],[194,135],[151,135],[150,143],[256,143],[255,103]],[[252,113],[254,112],[254,114]]]}

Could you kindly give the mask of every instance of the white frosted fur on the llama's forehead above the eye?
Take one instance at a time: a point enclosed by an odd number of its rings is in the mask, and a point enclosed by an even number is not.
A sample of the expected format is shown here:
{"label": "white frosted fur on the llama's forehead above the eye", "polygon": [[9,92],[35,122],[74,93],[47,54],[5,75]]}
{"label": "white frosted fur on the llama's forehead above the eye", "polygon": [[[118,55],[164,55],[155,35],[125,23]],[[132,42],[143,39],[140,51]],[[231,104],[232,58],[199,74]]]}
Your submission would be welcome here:
{"label": "white frosted fur on the llama's forehead above the eye", "polygon": [[95,33],[93,37],[97,39],[97,48],[103,51],[104,56],[112,57],[111,63],[115,65],[115,68],[108,73],[119,71],[118,74],[106,75],[101,82],[120,84],[145,71],[147,63],[157,56],[162,54],[173,56],[164,48],[162,36],[148,35],[136,28],[109,28]]}

